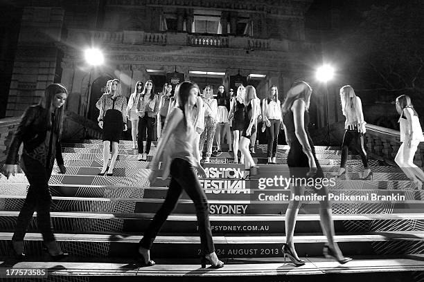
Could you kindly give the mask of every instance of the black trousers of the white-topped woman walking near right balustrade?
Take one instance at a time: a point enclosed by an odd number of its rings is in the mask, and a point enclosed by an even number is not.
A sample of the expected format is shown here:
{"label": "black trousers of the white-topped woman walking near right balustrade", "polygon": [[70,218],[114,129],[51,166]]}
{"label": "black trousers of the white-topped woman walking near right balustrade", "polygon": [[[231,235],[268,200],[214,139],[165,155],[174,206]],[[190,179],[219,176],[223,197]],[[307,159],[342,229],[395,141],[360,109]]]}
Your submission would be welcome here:
{"label": "black trousers of the white-topped woman walking near right balustrade", "polygon": [[342,143],[342,160],[340,160],[340,167],[346,167],[348,149],[356,151],[361,156],[364,169],[368,169],[368,154],[364,149],[364,133],[360,133],[357,130],[344,131]]}

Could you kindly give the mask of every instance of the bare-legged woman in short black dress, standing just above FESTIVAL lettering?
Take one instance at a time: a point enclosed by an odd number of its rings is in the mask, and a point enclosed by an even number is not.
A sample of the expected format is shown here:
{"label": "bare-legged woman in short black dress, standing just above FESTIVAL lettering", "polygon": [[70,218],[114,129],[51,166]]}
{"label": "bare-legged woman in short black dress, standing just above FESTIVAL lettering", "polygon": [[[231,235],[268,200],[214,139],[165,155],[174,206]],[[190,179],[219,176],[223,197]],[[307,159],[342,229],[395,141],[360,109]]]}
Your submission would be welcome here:
{"label": "bare-legged woman in short black dress, standing just above FESTIVAL lettering", "polygon": [[232,119],[233,129],[233,150],[234,163],[238,164],[238,143],[240,142],[240,132],[245,128],[245,86],[238,86],[237,95],[231,100],[231,108],[228,119]]}

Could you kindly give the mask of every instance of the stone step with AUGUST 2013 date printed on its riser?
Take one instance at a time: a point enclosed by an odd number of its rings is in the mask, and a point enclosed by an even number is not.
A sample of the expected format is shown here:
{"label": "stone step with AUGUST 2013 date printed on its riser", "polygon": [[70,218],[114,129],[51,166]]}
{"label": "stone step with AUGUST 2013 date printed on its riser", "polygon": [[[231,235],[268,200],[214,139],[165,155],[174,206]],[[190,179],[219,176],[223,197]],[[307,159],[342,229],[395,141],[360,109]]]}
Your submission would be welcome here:
{"label": "stone step with AUGUST 2013 date printed on its riser", "polygon": [[[55,234],[56,240],[67,252],[80,257],[126,257],[136,254],[141,236],[116,234]],[[10,232],[0,232],[0,256],[7,256]],[[281,247],[285,236],[213,236],[215,252],[222,259],[236,258],[281,258]],[[362,234],[337,234],[335,241],[346,256],[423,254],[424,232],[367,232]],[[26,252],[42,254],[42,235],[27,233]],[[294,236],[299,256],[322,256],[326,237],[322,235]],[[192,259],[200,256],[200,237],[159,236],[150,250],[152,258]],[[347,266],[347,265],[346,265]]]}

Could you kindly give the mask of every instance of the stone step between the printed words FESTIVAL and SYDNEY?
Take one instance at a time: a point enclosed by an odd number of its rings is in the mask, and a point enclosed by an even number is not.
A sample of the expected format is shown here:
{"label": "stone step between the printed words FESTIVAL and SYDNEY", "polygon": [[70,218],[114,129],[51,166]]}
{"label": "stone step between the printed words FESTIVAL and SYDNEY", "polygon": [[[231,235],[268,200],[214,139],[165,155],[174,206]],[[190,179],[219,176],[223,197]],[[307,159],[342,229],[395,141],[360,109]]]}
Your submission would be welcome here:
{"label": "stone step between the printed words FESTIVAL and SYDNEY", "polygon": [[[3,185],[0,187],[0,196],[26,196],[28,185]],[[208,200],[247,200],[263,203],[274,203],[275,201],[287,202],[292,193],[289,189],[204,189]],[[328,189],[329,197],[332,203],[355,202],[362,197],[368,196],[368,201],[379,202],[387,200],[383,196],[399,195],[404,196],[405,200],[422,200],[424,191],[420,190],[387,190],[387,189],[343,189],[333,187]],[[78,186],[51,186],[53,196],[80,197],[80,198],[144,198],[144,199],[164,199],[168,192],[167,187],[78,187]],[[314,196],[316,191],[306,189],[306,196]],[[182,192],[182,199],[189,200],[185,191]],[[375,200],[378,199],[378,200]],[[366,199],[365,199],[366,200]],[[308,200],[306,201],[308,203]]]}

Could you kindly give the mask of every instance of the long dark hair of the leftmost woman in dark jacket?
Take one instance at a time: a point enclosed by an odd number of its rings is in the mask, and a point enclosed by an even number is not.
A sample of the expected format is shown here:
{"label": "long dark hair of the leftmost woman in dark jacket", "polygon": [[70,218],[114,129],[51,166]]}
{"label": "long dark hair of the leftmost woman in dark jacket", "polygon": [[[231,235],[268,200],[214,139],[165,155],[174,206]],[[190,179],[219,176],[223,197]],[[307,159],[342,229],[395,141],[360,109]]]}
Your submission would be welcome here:
{"label": "long dark hair of the leftmost woman in dark jacket", "polygon": [[[46,91],[44,91],[44,95],[42,95],[39,100],[38,105],[46,110],[46,116],[44,117],[45,123],[48,128],[51,128],[51,103],[53,99],[55,99],[55,95],[59,93],[65,93],[68,96],[67,88],[65,88],[62,84],[50,84],[47,86]],[[53,132],[58,134],[59,138],[62,134],[62,117],[64,113],[64,106],[60,109],[56,109],[55,114],[55,127],[52,129]]]}

